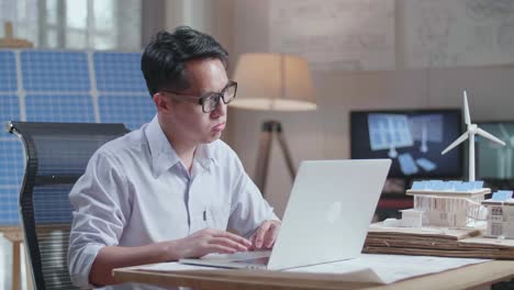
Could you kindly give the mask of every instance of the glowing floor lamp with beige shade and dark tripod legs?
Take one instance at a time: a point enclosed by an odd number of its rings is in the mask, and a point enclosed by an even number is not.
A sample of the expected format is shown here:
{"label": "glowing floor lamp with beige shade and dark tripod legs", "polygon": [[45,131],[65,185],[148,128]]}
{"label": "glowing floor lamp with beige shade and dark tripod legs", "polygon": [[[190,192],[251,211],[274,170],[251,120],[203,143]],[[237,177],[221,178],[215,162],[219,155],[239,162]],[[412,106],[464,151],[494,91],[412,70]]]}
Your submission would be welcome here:
{"label": "glowing floor lamp with beige shade and dark tripod legs", "polygon": [[[234,108],[267,112],[298,112],[316,109],[316,97],[308,62],[286,54],[243,54],[237,60],[233,79],[237,81]],[[262,123],[257,154],[255,183],[265,194],[273,137],[286,159],[289,175],[295,168],[278,120]]]}

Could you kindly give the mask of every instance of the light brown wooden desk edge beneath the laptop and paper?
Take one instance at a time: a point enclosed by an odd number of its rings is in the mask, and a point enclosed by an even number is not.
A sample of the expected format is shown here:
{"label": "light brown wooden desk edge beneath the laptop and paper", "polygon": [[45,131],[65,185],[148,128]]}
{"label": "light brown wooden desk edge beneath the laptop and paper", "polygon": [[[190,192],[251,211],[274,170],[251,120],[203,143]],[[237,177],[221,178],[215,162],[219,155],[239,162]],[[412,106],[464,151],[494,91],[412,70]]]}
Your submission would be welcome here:
{"label": "light brown wooden desk edge beneath the laptop and paper", "polygon": [[[343,282],[335,278],[316,278],[310,275],[299,278],[288,272],[262,270],[194,270],[175,272],[152,272],[130,268],[114,269],[119,281],[143,282],[164,286],[183,286],[193,289],[470,289],[514,278],[513,260],[493,260],[466,266],[439,274],[427,275],[399,281],[388,286],[371,283]],[[320,276],[319,276],[320,277]]]}

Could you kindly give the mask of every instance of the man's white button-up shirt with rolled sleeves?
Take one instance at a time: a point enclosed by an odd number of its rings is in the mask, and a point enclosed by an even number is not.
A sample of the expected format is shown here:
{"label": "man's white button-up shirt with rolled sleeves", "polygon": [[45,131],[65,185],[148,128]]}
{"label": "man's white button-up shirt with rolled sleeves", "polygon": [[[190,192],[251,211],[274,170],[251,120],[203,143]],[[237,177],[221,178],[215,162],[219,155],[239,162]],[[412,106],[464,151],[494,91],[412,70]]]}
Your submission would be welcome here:
{"label": "man's white button-up shirt with rolled sleeves", "polygon": [[75,211],[68,265],[79,287],[90,287],[91,265],[104,246],[178,239],[205,227],[248,236],[265,220],[278,220],[228,145],[200,145],[190,175],[157,116],[94,153],[69,198]]}

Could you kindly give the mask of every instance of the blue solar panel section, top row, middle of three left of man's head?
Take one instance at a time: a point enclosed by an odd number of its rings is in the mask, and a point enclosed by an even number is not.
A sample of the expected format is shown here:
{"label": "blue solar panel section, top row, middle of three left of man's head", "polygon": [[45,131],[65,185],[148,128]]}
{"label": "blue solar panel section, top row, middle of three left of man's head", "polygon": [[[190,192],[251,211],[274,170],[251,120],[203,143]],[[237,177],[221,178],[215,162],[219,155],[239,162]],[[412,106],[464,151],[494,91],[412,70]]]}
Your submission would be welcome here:
{"label": "blue solar panel section, top row, middle of three left of man's head", "polygon": [[25,51],[21,66],[27,91],[89,92],[91,88],[86,53]]}

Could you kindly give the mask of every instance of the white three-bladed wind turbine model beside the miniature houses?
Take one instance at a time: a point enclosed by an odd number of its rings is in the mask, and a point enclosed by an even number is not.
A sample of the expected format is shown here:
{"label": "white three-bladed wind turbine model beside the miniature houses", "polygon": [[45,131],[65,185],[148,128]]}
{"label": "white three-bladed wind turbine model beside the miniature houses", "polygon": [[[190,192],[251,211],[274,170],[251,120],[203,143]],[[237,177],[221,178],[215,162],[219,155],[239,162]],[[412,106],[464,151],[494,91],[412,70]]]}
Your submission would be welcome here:
{"label": "white three-bladed wind turbine model beside the miniature houses", "polygon": [[460,135],[454,143],[451,143],[446,149],[444,149],[440,154],[444,155],[447,152],[455,148],[457,145],[460,143],[465,142],[466,140],[469,140],[469,181],[474,181],[474,135],[479,134],[480,136],[488,138],[492,142],[495,142],[498,144],[501,144],[505,146],[505,143],[499,138],[496,138],[494,135],[491,133],[488,133],[480,127],[478,127],[477,124],[471,123],[471,116],[469,115],[469,107],[468,107],[468,96],[466,94],[466,90],[463,91],[463,113],[465,113],[465,123],[468,126],[468,130]]}

